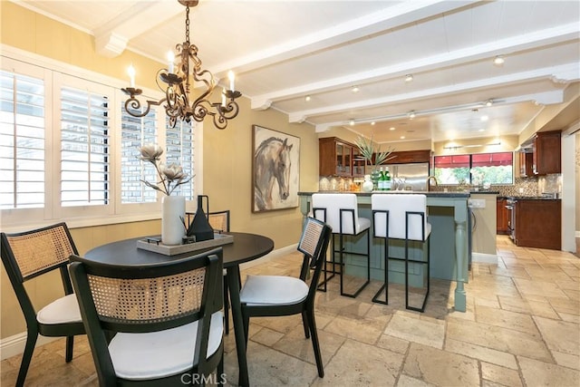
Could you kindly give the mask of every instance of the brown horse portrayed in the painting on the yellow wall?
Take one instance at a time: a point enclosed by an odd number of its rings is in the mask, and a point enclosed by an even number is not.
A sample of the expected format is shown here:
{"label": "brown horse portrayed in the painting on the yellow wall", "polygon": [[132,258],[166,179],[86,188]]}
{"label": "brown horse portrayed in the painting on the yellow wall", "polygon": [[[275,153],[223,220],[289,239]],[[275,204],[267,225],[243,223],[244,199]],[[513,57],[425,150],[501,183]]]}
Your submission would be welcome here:
{"label": "brown horse portrayed in the painting on the yellow wall", "polygon": [[[291,191],[293,147],[287,138],[277,137],[266,138],[257,145],[254,152],[255,211],[292,207],[285,200]],[[294,180],[297,183],[297,178]]]}

